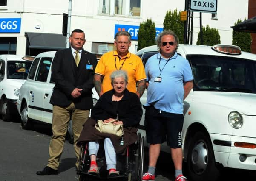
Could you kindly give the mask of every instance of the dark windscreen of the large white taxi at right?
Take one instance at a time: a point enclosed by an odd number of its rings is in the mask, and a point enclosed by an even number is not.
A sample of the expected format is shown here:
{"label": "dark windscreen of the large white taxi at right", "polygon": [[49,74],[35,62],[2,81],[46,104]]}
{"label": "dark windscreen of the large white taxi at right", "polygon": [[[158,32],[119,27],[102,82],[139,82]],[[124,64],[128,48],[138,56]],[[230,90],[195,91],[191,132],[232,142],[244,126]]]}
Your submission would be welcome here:
{"label": "dark windscreen of the large white taxi at right", "polygon": [[256,93],[256,61],[210,55],[188,55],[198,91]]}

